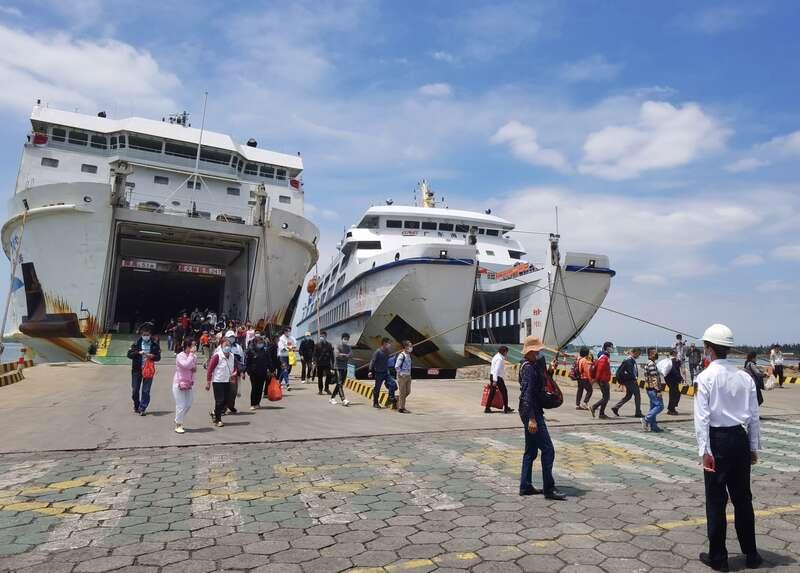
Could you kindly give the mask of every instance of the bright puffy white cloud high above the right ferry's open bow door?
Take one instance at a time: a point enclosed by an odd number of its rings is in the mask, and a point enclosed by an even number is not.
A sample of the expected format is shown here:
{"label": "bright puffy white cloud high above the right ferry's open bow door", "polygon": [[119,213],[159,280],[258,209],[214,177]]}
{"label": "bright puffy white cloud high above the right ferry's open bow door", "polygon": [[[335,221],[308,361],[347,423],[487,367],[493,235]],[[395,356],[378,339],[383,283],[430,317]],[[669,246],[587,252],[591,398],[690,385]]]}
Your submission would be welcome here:
{"label": "bright puffy white cloud high above the right ferry's open bow door", "polygon": [[604,179],[635,179],[643,172],[685,165],[722,149],[729,134],[697,104],[675,107],[646,101],[635,122],[589,134],[580,171]]}

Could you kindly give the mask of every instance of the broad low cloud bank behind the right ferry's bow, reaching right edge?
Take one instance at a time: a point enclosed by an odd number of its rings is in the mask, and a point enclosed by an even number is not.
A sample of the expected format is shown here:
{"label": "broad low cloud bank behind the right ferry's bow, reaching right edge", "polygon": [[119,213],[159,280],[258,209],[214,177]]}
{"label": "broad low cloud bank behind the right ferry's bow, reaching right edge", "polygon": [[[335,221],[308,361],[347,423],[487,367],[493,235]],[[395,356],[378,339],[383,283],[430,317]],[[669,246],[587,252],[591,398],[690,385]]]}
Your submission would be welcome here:
{"label": "broad low cloud bank behind the right ferry's bow, reaching right edge", "polygon": [[[753,196],[762,197],[758,205],[753,205]],[[800,188],[702,189],[669,201],[663,196],[529,187],[486,206],[517,228],[537,232],[554,231],[557,206],[562,253],[608,254],[620,279],[672,289],[730,273],[720,253],[767,240],[767,222],[780,226],[791,221],[800,207]],[[541,238],[517,238],[528,246],[531,260],[545,256]]]}

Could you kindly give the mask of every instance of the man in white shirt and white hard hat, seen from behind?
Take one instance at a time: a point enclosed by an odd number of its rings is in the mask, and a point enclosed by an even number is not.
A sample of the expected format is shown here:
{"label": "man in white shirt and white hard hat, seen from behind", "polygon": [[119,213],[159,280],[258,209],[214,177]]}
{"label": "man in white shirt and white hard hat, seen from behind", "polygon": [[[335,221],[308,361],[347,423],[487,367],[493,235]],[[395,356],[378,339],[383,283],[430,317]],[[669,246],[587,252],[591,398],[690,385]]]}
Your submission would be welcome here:
{"label": "man in white shirt and white hard hat, seen from behind", "polygon": [[733,333],[714,324],[703,334],[710,364],[697,376],[694,427],[703,459],[708,517],[708,553],[700,561],[716,571],[728,571],[725,547],[728,496],[733,502],[736,536],[747,558],[747,567],[758,567],[763,559],[756,549],[750,466],[758,461],[761,428],[758,398],[753,379],[727,360]]}

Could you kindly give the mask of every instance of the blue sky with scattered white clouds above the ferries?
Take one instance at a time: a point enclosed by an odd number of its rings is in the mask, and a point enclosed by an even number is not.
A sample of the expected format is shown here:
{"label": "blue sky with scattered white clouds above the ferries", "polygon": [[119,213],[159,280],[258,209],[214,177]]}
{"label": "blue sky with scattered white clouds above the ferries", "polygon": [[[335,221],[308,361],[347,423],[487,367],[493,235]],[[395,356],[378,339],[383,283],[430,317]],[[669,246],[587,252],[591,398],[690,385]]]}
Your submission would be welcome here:
{"label": "blue sky with scattered white clouds above the ferries", "polygon": [[[610,308],[797,341],[799,27],[793,0],[0,0],[0,185],[37,98],[197,122],[208,90],[209,129],[302,153],[322,267],[425,178],[521,230],[557,207],[562,252],[610,257]],[[601,310],[583,339],[673,336]]]}

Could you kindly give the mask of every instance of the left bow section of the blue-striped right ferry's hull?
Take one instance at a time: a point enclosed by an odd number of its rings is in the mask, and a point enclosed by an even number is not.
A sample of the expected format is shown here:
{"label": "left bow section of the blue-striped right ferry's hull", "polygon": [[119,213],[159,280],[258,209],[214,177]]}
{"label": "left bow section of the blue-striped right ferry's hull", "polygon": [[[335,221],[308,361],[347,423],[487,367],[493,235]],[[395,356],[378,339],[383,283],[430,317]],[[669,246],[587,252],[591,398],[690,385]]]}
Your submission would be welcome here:
{"label": "left bow section of the blue-striped right ferry's hull", "polygon": [[[350,335],[358,378],[366,377],[369,360],[384,337],[392,341],[393,352],[403,340],[414,344],[415,375],[454,374],[455,368],[470,361],[464,345],[475,249],[450,246],[447,258],[440,258],[439,250],[438,245],[402,247],[397,260],[376,261],[374,268],[320,308],[320,329],[329,340],[336,343],[343,333]],[[347,315],[327,320],[330,309],[342,304]],[[316,334],[316,314],[300,321],[296,330]]]}

